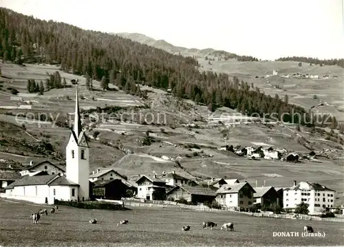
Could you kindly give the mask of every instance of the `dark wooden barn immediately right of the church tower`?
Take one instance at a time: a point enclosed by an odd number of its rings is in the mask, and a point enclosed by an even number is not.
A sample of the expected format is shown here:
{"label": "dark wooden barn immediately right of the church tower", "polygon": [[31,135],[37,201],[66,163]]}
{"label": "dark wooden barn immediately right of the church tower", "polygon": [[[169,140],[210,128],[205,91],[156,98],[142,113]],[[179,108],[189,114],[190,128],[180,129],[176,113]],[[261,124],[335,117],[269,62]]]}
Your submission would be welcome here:
{"label": "dark wooden barn immediately right of the church tower", "polygon": [[122,197],[135,195],[136,188],[120,179],[96,180],[93,182],[92,193],[95,198],[120,200]]}

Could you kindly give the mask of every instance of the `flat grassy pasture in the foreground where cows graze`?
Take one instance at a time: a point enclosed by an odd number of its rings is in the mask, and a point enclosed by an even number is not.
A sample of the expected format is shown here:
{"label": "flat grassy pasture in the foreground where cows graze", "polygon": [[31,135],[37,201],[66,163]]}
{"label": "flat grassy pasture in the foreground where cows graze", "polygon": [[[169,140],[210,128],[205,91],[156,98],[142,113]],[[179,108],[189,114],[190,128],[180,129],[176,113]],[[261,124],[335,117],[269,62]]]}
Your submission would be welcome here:
{"label": "flat grassy pasture in the foreground where cows graze", "polygon": [[[61,206],[32,224],[30,214],[46,208],[0,200],[2,246],[336,246],[343,245],[341,223],[269,219],[233,212],[195,212],[180,208],[132,207],[131,211],[101,211]],[[98,219],[98,224],[89,224]],[[122,220],[129,224],[116,227]],[[235,224],[234,232],[202,230],[203,221]],[[191,226],[182,232],[183,225]],[[325,237],[301,237],[311,224]],[[274,231],[299,232],[299,237],[272,237]]]}

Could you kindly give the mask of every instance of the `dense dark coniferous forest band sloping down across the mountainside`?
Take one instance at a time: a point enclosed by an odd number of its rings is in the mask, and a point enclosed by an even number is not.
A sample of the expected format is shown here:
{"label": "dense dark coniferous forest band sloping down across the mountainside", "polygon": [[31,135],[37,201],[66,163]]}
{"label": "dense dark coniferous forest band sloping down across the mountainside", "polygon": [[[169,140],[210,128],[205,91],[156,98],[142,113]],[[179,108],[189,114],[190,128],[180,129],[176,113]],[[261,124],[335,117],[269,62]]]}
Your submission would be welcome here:
{"label": "dense dark coniferous forest band sloping down across the mountainside", "polygon": [[[0,57],[18,64],[59,64],[65,72],[84,75],[87,81],[101,80],[105,87],[112,83],[126,92],[135,93],[136,83],[170,88],[175,96],[206,104],[209,109],[226,106],[248,115],[276,113],[279,117],[283,112],[299,113],[308,116],[302,124],[309,119],[309,112],[289,104],[288,96],[282,100],[228,74],[200,72],[195,58],[112,34],[41,21],[6,8],[0,8]],[[40,85],[32,85],[29,91],[40,91]],[[292,121],[288,115],[283,120]],[[297,116],[294,122],[299,122]]]}

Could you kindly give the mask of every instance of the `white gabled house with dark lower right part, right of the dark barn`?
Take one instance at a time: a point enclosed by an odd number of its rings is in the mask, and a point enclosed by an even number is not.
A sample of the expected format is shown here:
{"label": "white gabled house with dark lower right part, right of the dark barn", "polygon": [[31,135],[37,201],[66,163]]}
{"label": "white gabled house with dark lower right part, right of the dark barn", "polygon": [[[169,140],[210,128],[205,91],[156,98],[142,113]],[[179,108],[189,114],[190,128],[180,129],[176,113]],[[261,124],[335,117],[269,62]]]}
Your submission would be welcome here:
{"label": "white gabled house with dark lower right part, right of the dark barn", "polygon": [[150,178],[147,175],[142,175],[138,180],[138,197],[144,200],[165,200],[166,199],[166,182],[156,178]]}

